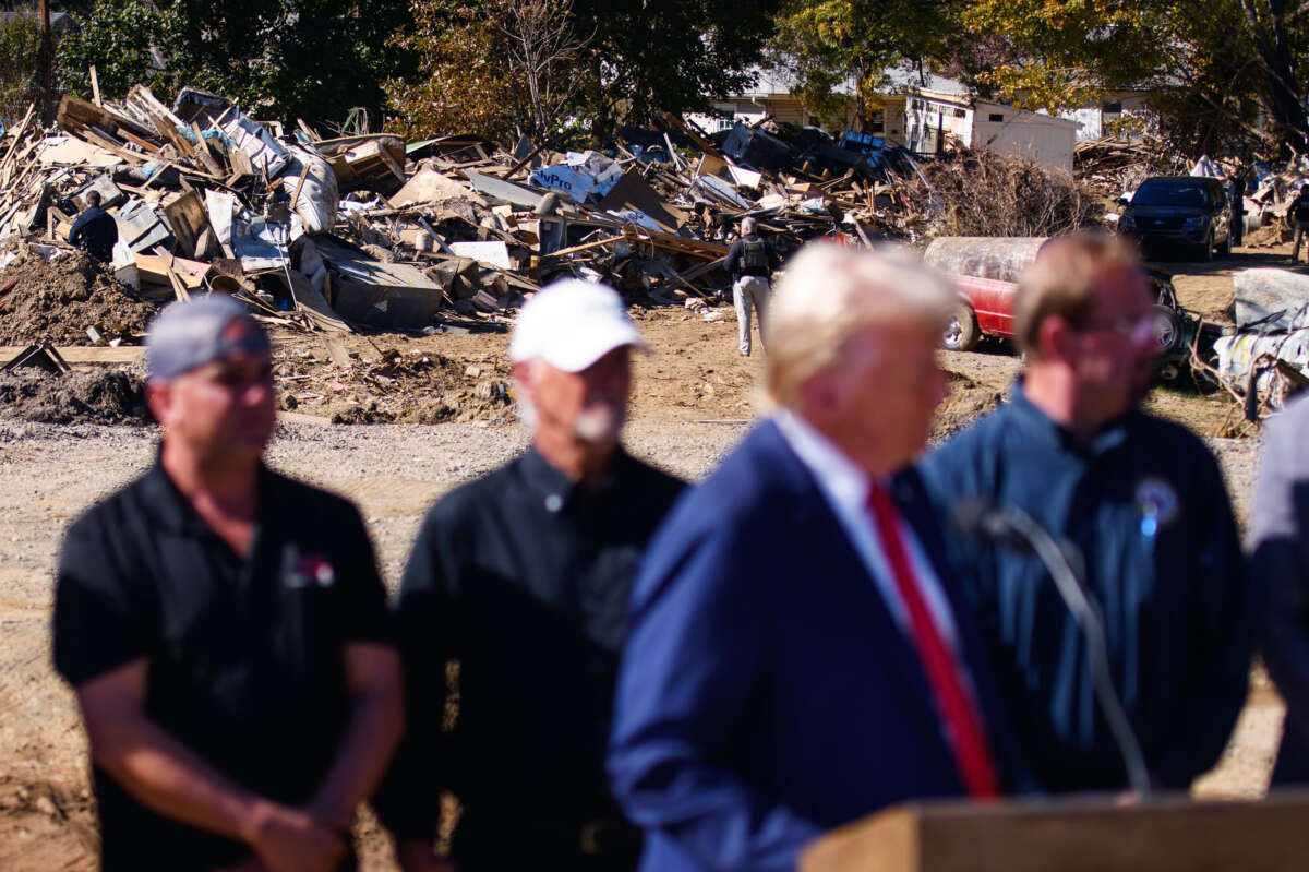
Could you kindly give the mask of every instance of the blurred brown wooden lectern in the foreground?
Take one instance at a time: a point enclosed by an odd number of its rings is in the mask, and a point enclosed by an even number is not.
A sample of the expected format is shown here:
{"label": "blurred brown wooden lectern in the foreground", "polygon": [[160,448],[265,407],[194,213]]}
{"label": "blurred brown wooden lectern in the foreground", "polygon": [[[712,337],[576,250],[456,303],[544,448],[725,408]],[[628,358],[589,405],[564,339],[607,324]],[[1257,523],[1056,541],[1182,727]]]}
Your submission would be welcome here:
{"label": "blurred brown wooden lectern in the foreground", "polygon": [[1166,795],[897,805],[814,842],[800,872],[1292,872],[1309,869],[1309,791],[1258,801]]}

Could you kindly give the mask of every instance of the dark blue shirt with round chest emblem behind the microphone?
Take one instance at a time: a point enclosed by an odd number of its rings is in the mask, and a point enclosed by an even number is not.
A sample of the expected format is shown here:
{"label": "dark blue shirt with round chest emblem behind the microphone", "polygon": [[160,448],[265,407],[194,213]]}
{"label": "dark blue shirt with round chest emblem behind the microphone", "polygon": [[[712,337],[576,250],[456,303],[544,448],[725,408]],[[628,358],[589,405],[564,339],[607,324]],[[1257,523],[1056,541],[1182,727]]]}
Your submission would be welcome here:
{"label": "dark blue shirt with round chest emblem behind the microphone", "polygon": [[[1024,395],[927,457],[942,517],[961,499],[1017,505],[1085,556],[1114,682],[1152,775],[1185,787],[1219,758],[1245,700],[1250,613],[1212,454],[1140,411],[1088,446]],[[1050,790],[1126,786],[1088,649],[1034,555],[953,537],[1020,741]]]}

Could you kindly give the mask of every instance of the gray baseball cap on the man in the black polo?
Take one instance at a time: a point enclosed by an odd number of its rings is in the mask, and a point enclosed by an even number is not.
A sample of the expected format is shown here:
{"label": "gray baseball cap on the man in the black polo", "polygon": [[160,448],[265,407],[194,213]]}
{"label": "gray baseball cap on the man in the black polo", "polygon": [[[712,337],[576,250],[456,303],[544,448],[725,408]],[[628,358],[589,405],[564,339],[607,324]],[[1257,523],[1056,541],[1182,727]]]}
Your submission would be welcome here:
{"label": "gray baseball cap on the man in the black polo", "polygon": [[[233,321],[245,321],[254,330],[224,338]],[[145,372],[151,381],[169,381],[238,351],[270,354],[272,344],[245,305],[225,293],[211,293],[173,302],[154,317],[145,331]]]}

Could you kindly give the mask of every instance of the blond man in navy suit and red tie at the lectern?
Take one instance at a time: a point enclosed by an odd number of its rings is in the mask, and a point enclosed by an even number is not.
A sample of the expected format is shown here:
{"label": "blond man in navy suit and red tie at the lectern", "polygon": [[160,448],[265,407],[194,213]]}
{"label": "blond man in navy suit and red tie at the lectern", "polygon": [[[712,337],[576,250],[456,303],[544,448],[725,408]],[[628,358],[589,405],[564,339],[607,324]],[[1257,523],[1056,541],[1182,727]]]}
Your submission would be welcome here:
{"label": "blond man in navy suit and red tie at the lectern", "polygon": [[779,411],[678,503],[632,594],[609,771],[643,872],[795,869],[888,805],[1029,786],[908,466],[956,300],[907,254],[791,261]]}

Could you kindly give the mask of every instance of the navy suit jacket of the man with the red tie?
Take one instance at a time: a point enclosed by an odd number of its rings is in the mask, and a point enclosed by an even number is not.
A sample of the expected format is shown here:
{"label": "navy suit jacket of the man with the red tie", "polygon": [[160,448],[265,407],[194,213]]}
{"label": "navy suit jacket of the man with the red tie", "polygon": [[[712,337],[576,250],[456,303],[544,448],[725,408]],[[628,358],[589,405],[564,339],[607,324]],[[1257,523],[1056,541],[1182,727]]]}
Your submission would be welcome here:
{"label": "navy suit jacket of the man with the red tie", "polygon": [[[918,475],[891,495],[950,598],[1005,788],[1026,788]],[[652,539],[615,706],[609,772],[643,871],[791,869],[825,830],[965,792],[912,642],[771,422]]]}

